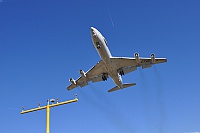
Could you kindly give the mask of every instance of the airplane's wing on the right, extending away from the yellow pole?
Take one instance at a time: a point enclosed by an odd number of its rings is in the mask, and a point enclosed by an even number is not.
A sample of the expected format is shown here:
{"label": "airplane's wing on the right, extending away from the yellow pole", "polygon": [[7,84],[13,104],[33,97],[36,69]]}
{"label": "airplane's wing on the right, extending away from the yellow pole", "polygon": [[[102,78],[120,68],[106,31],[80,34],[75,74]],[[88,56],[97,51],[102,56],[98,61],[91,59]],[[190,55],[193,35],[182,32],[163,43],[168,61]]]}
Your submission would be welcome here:
{"label": "airplane's wing on the right, extending away from the yellow pole", "polygon": [[127,57],[112,57],[111,62],[115,64],[118,72],[121,75],[127,74],[137,67],[149,68],[154,64],[167,62],[166,58],[127,58]]}

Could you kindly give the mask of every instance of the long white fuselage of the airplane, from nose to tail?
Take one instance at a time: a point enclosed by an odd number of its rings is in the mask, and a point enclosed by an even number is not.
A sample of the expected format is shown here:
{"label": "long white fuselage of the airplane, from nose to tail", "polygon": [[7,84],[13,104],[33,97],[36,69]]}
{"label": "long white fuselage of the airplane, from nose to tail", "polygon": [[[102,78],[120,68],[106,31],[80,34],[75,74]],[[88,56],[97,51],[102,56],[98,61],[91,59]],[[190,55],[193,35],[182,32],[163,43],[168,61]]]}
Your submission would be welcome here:
{"label": "long white fuselage of the airplane, from nose to tail", "polygon": [[108,49],[107,42],[103,35],[94,27],[91,27],[91,37],[94,47],[96,48],[99,56],[101,57],[109,76],[112,78],[114,83],[119,87],[123,88],[121,75],[117,72],[116,66],[110,61],[112,57],[110,50]]}

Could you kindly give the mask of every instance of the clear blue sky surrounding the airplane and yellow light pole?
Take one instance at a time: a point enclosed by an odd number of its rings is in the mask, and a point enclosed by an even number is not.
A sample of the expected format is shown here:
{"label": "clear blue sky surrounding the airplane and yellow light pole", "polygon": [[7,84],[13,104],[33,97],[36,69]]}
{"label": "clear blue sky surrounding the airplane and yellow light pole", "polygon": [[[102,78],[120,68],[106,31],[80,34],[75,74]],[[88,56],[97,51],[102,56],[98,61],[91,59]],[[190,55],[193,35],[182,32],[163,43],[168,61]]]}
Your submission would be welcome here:
{"label": "clear blue sky surrounding the airplane and yellow light pole", "polygon": [[[107,93],[109,79],[68,92],[100,60],[91,26],[113,56],[168,62],[123,76],[137,86],[121,91]],[[45,110],[21,107],[74,94],[79,102],[51,109],[51,133],[200,132],[199,61],[199,0],[0,0],[0,132],[45,132]]]}

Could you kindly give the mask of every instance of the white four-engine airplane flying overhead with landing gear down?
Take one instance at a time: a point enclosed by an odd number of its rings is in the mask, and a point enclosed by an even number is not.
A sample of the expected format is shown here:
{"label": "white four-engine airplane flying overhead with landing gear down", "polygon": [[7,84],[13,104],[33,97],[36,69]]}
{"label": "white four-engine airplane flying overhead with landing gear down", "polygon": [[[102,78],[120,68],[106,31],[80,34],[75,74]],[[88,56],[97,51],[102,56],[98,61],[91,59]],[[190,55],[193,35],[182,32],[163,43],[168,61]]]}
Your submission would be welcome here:
{"label": "white four-engine airplane flying overhead with landing gear down", "polygon": [[106,81],[112,78],[116,86],[108,92],[124,89],[136,85],[136,83],[123,84],[121,76],[137,70],[137,67],[149,68],[154,64],[167,62],[166,58],[155,58],[155,54],[151,54],[150,58],[140,58],[138,53],[134,54],[134,58],[113,57],[108,49],[108,44],[103,35],[94,27],[90,28],[91,38],[101,60],[87,72],[80,70],[80,77],[77,80],[70,78],[71,84],[67,87],[72,90],[78,86],[81,88],[88,85],[92,81]]}

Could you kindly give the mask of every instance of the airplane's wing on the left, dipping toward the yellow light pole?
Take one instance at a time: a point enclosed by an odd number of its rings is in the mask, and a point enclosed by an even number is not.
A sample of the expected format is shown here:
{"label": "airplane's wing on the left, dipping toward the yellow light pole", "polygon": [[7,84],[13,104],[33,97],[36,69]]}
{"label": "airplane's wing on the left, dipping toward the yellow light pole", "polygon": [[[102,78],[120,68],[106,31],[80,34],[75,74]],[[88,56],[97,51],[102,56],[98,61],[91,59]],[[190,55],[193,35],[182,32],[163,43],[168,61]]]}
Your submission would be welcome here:
{"label": "airplane's wing on the left, dipping toward the yellow light pole", "polygon": [[103,75],[108,78],[108,71],[105,68],[103,62],[100,61],[95,66],[93,66],[90,70],[88,70],[86,73],[82,71],[81,76],[77,80],[70,79],[72,83],[67,87],[67,89],[72,90],[78,86],[84,87],[88,85],[89,81],[92,81],[92,82],[103,81],[102,79]]}

